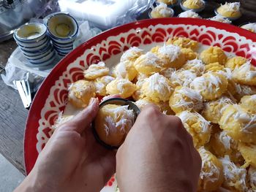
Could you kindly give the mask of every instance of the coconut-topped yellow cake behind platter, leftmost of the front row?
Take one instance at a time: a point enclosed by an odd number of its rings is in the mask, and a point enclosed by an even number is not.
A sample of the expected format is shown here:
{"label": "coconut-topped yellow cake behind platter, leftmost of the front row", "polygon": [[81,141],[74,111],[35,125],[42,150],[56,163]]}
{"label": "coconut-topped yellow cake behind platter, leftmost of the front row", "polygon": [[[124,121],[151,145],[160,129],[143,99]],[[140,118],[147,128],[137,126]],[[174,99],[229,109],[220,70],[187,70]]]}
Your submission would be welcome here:
{"label": "coconut-topped yellow cake behind platter, leftmost of the front row", "polygon": [[157,5],[157,7],[152,9],[151,17],[152,18],[171,18],[173,17],[173,9],[170,9],[169,7],[167,7],[167,4],[160,2],[159,5]]}

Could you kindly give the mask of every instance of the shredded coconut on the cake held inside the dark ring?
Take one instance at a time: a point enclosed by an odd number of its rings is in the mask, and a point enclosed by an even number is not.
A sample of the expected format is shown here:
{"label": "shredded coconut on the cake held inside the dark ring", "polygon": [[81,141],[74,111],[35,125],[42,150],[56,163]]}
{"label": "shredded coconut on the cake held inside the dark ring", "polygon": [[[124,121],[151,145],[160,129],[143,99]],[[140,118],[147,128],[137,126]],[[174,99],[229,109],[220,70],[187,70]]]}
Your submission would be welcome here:
{"label": "shredded coconut on the cake held inside the dark ring", "polygon": [[129,105],[105,108],[109,114],[113,114],[113,116],[107,116],[105,118],[104,128],[107,136],[110,132],[118,131],[118,128],[120,128],[120,131],[124,134],[127,134],[129,129],[132,128],[135,122],[135,114],[133,110],[129,110],[128,108]]}

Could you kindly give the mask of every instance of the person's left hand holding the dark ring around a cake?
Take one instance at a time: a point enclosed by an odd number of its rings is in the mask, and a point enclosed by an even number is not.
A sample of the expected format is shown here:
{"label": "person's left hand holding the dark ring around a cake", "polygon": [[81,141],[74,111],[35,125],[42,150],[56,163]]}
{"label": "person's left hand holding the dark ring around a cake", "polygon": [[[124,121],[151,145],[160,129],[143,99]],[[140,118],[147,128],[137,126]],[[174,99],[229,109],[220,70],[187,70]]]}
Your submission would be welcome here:
{"label": "person's left hand holding the dark ring around a cake", "polygon": [[[98,100],[59,126],[17,191],[97,191],[114,174],[116,153],[99,145],[91,131]],[[30,189],[30,190],[29,190]]]}

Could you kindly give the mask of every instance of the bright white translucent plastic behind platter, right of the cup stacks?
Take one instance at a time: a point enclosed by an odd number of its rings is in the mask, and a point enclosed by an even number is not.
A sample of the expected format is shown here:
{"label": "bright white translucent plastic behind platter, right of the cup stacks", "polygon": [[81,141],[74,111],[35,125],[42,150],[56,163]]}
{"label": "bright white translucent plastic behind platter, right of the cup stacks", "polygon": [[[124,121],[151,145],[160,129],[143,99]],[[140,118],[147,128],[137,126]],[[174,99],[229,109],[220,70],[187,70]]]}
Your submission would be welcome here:
{"label": "bright white translucent plastic behind platter, right of the cup stacks", "polygon": [[103,30],[136,20],[154,0],[59,0],[63,12]]}

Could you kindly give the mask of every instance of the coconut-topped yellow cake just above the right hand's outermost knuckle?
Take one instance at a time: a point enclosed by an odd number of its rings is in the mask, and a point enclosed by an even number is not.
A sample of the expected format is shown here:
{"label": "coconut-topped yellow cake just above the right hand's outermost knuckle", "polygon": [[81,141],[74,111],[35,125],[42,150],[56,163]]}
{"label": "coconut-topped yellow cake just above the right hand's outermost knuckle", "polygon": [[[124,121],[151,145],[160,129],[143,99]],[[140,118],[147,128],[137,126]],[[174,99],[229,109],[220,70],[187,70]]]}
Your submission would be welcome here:
{"label": "coconut-topped yellow cake just above the right hand's outermost knuckle", "polygon": [[178,86],[170,96],[169,104],[176,114],[186,110],[199,112],[203,109],[203,97],[197,91]]}

